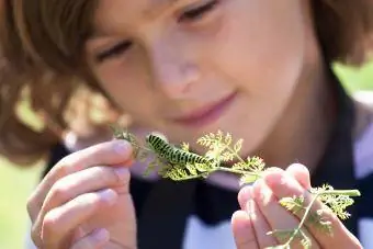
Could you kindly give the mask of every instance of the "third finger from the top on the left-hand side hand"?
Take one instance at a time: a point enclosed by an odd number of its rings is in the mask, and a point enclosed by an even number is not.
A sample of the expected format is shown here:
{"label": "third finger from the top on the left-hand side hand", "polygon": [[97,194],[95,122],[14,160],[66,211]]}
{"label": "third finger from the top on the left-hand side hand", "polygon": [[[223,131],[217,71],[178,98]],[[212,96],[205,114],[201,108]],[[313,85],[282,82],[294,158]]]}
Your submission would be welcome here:
{"label": "third finger from the top on the left-hand side hand", "polygon": [[115,204],[117,194],[113,190],[86,193],[58,206],[45,215],[41,230],[43,248],[59,248],[67,236],[87,223],[104,207]]}

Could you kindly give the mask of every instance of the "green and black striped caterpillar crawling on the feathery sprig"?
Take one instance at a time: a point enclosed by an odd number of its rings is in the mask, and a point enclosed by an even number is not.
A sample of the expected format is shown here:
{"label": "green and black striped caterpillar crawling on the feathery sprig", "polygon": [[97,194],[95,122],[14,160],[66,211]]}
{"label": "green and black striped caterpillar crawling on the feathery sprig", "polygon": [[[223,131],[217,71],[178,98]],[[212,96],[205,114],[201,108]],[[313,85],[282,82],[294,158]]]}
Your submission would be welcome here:
{"label": "green and black striped caterpillar crawling on the feathery sprig", "polygon": [[161,134],[150,133],[146,136],[148,146],[161,158],[168,162],[177,165],[187,163],[211,163],[212,160],[197,154],[182,150],[170,143]]}

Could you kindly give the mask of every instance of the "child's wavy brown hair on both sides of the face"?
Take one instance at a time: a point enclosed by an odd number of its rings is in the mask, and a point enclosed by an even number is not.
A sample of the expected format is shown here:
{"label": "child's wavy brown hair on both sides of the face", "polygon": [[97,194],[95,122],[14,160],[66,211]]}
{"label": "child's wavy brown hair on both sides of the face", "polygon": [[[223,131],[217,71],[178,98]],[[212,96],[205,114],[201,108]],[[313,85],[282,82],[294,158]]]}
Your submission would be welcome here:
{"label": "child's wavy brown hair on both sides of the face", "polygon": [[[70,128],[66,113],[81,104],[71,104],[77,90],[105,94],[82,55],[98,1],[1,0],[0,4],[0,154],[26,165],[45,155]],[[372,46],[373,1],[310,0],[310,4],[326,60],[365,61]],[[42,117],[41,127],[22,118],[22,103]]]}

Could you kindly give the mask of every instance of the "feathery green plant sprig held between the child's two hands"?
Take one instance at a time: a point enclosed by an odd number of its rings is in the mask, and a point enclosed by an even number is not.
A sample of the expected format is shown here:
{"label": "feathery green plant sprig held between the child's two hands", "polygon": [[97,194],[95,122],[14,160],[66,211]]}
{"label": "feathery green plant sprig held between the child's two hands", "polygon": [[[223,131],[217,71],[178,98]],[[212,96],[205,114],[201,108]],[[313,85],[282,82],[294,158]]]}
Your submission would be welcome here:
{"label": "feathery green plant sprig held between the child's two hands", "polygon": [[[155,152],[150,147],[140,146],[137,143],[135,136],[128,132],[123,132],[117,128],[113,128],[114,135],[117,139],[126,139],[128,140],[134,148],[136,148],[137,152],[136,156],[139,157],[139,150],[149,152]],[[170,178],[174,181],[185,181],[199,178],[206,178],[211,173],[216,171],[224,171],[230,172],[241,176],[241,180],[244,179],[244,183],[249,183],[256,181],[257,179],[261,178],[262,172],[264,171],[264,165],[261,160],[250,160],[245,161],[238,154],[241,148],[241,142],[239,140],[235,144],[234,148],[230,147],[231,136],[230,134],[223,135],[221,131],[216,134],[208,134],[204,137],[201,137],[197,143],[208,148],[206,155],[208,157],[208,163],[199,165],[199,163],[188,163],[187,166],[180,165],[172,165],[166,161],[162,170],[158,173],[160,177]],[[188,149],[188,148],[187,148]],[[226,152],[226,150],[228,152]],[[146,171],[154,170],[155,165],[161,163],[165,158],[161,158],[161,155],[155,155],[156,158],[154,161],[149,162],[149,167]],[[204,156],[206,157],[206,156]],[[226,161],[227,158],[236,158],[238,160],[233,167],[223,167],[222,162]],[[207,159],[207,157],[206,157]],[[211,163],[211,159],[213,162]],[[284,236],[286,235],[287,240],[285,244],[276,246],[274,248],[290,248],[292,241],[301,237],[302,245],[304,248],[310,248],[310,239],[305,235],[302,230],[305,223],[308,222],[309,217],[315,218],[312,222],[315,223],[314,225],[318,225],[326,228],[331,228],[330,223],[325,222],[318,212],[313,213],[312,208],[316,201],[324,203],[325,205],[329,206],[330,210],[340,218],[349,217],[349,214],[344,211],[344,208],[349,205],[353,204],[353,200],[350,197],[360,196],[361,193],[359,190],[334,190],[330,185],[323,185],[321,188],[312,188],[307,190],[310,194],[313,194],[312,201],[305,206],[304,205],[304,196],[293,196],[293,197],[284,197],[280,200],[280,204],[287,208],[289,211],[293,212],[293,214],[297,213],[298,211],[305,210],[302,219],[297,227],[292,230],[273,230],[270,231],[269,235],[273,236]],[[316,215],[315,215],[316,214]],[[328,230],[328,229],[327,229]]]}

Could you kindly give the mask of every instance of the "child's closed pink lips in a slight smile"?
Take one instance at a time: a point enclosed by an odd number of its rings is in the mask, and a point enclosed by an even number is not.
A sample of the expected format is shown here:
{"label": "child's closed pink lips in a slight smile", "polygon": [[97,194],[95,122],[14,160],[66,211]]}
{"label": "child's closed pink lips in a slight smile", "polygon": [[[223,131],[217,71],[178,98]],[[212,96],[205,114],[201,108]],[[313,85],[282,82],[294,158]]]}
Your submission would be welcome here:
{"label": "child's closed pink lips in a slight smile", "polygon": [[237,91],[221,99],[217,102],[207,104],[202,109],[195,110],[187,115],[174,118],[176,123],[185,126],[202,126],[216,121],[223,112],[230,105],[237,95]]}

